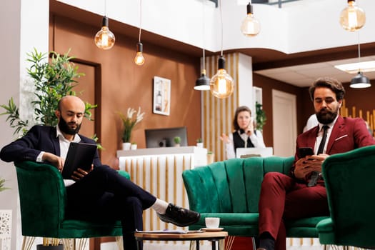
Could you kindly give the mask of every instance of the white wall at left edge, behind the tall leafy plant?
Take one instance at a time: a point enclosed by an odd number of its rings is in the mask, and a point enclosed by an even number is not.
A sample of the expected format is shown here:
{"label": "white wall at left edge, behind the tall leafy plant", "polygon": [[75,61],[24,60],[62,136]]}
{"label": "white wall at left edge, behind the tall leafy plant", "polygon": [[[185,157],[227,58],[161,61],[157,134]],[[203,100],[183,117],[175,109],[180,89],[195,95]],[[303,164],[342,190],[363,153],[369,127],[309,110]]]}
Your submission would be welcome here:
{"label": "white wall at left edge, behind the tall leafy plant", "polygon": [[[3,49],[0,61],[0,104],[8,104],[11,97],[16,104],[25,100],[22,91],[26,81],[26,53],[35,47],[48,51],[49,1],[48,0],[2,0],[0,22],[4,24],[1,39]],[[6,36],[4,35],[6,34]],[[27,89],[27,88],[26,88]],[[24,113],[26,106],[20,107]],[[1,113],[4,110],[1,110]],[[14,140],[14,130],[9,127],[6,116],[0,116],[0,147]],[[6,179],[11,190],[0,193],[0,209],[12,209],[11,249],[21,249],[21,219],[16,170],[13,164],[0,161],[0,177]]]}

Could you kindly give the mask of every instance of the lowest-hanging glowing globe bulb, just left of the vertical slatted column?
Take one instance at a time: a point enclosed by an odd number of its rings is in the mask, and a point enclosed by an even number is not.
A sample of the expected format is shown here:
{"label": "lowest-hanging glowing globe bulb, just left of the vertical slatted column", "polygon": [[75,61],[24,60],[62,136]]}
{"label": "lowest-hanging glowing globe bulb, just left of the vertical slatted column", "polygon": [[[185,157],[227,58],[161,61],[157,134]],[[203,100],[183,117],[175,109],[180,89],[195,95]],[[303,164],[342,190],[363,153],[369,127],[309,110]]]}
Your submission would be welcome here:
{"label": "lowest-hanging glowing globe bulb, just left of the vertical slatted column", "polygon": [[228,73],[226,73],[224,66],[225,59],[223,56],[220,56],[218,71],[214,76],[212,76],[210,81],[211,94],[220,99],[231,96],[234,91],[233,79]]}

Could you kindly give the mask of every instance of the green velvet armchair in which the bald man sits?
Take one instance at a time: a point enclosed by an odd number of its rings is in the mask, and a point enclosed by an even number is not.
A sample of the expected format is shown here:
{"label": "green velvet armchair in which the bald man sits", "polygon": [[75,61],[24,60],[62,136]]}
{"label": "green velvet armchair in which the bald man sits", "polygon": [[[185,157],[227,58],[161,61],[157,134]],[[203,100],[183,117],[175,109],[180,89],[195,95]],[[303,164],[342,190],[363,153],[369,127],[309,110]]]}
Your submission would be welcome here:
{"label": "green velvet armchair in which the bald man sits", "polygon": [[[23,236],[58,239],[122,236],[120,221],[95,223],[65,218],[66,189],[54,166],[32,161],[15,165]],[[119,173],[129,178],[125,171]]]}

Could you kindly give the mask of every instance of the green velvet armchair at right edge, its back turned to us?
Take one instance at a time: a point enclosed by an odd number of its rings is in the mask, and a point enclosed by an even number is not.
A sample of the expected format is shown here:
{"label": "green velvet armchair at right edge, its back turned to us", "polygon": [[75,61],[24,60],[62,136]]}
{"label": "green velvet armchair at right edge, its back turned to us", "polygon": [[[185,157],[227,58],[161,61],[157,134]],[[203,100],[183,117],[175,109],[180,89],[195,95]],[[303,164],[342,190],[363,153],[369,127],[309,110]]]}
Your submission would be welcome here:
{"label": "green velvet armchair at right edge, its back turned to us", "polygon": [[329,219],[317,225],[321,244],[375,247],[375,146],[329,156],[322,166]]}

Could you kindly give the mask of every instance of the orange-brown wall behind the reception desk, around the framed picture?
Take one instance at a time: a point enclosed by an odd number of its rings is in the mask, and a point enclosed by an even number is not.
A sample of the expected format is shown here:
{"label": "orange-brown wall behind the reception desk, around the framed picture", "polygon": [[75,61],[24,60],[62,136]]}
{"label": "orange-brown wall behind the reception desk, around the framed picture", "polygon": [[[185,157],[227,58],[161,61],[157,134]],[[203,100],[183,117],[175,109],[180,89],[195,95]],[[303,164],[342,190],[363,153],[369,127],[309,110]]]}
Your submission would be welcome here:
{"label": "orange-brown wall behind the reception desk, around the framed picture", "polygon": [[[71,49],[69,55],[99,69],[96,76],[101,77],[96,82],[95,102],[99,104],[96,133],[105,149],[101,151],[102,163],[118,166],[116,151],[121,149],[121,120],[116,111],[126,114],[128,107],[138,109],[140,106],[141,111],[146,112],[131,139],[139,148],[146,147],[144,129],[175,126],[186,126],[188,144],[195,145],[196,139],[201,137],[200,92],[193,89],[199,77],[199,58],[155,44],[144,44],[146,62],[143,66],[136,66],[136,41],[117,35],[112,49],[98,49],[94,44],[94,35],[99,28],[61,16],[51,16],[50,21],[51,51],[65,54]],[[152,113],[154,76],[171,79],[169,116]]]}

